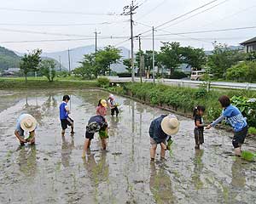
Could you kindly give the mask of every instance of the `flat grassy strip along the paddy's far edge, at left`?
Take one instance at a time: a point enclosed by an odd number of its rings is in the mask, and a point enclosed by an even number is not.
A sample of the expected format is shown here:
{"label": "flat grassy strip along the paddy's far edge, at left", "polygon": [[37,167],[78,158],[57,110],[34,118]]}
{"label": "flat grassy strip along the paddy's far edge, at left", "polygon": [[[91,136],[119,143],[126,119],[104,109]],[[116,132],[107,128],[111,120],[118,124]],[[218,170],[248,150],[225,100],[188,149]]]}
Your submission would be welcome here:
{"label": "flat grassy strip along the paddy's far edge, at left", "polygon": [[96,88],[96,81],[79,81],[68,79],[56,79],[48,82],[44,77],[28,77],[27,82],[24,77],[0,77],[0,89],[9,88]]}

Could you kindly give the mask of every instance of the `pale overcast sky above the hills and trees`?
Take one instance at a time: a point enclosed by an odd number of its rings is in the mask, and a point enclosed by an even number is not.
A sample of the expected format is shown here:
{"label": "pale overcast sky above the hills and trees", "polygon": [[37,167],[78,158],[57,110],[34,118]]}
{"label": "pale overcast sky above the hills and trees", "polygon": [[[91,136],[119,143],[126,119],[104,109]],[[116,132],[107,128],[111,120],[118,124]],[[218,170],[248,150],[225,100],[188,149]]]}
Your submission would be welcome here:
{"label": "pale overcast sky above the hills and trees", "polygon": [[[149,26],[160,26],[168,20],[211,1],[137,0],[136,3],[143,4],[137,8],[137,14],[134,14],[134,34],[136,36],[148,31]],[[2,0],[0,4],[0,46],[20,52],[34,48],[42,48],[44,52],[54,52],[94,44],[94,31],[97,29],[101,32],[98,35],[98,46],[111,44],[130,48],[130,42],[124,42],[130,36],[129,16],[108,15],[110,13],[121,14],[125,5],[130,3],[130,0]],[[211,8],[217,4],[219,5]],[[256,29],[179,36],[160,35],[168,32],[182,33],[256,26],[255,8],[256,0],[218,0],[166,26],[161,26],[161,31],[160,29],[155,31],[155,48],[160,49],[161,41],[177,41],[182,45],[205,49],[212,49],[214,40],[229,45],[238,45],[239,42],[255,37]],[[204,11],[206,9],[208,10]],[[38,10],[38,12],[32,12],[32,10]],[[201,14],[198,14],[200,12]],[[142,37],[143,49],[152,48],[151,35],[152,32],[147,32]],[[110,36],[120,38],[101,39]],[[78,38],[88,39],[69,42],[20,42]],[[138,42],[135,41],[135,49],[137,48]]]}

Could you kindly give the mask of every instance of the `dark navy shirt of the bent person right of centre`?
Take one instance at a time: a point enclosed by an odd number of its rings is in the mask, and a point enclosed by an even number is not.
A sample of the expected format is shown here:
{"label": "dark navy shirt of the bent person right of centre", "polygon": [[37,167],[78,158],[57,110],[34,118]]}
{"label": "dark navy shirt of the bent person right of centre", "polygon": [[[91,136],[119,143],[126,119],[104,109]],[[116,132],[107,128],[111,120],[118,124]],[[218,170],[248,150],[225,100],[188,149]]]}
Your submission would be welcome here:
{"label": "dark navy shirt of the bent person right of centre", "polygon": [[153,122],[151,122],[149,127],[149,136],[154,139],[157,144],[166,141],[168,134],[166,134],[161,127],[161,122],[166,115],[162,115],[158,118],[155,118]]}

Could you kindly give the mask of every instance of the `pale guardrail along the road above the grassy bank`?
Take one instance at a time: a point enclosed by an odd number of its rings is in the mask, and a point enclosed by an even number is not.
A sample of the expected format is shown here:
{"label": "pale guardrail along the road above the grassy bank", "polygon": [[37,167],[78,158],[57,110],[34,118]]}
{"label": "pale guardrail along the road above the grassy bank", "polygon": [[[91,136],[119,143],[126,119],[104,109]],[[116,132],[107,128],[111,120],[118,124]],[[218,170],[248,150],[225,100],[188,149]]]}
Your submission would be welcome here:
{"label": "pale guardrail along the road above the grassy bank", "polygon": [[[132,82],[131,77],[108,77],[110,82],[113,83],[123,83],[123,82]],[[135,82],[140,82],[139,77],[135,77]],[[153,82],[153,79],[143,78],[143,82]],[[182,79],[155,79],[156,83],[162,83],[170,86],[178,87],[190,87],[197,88],[204,84],[202,81],[190,81]],[[211,88],[236,88],[236,89],[247,89],[247,90],[256,90],[256,83],[242,83],[242,82],[211,82]]]}

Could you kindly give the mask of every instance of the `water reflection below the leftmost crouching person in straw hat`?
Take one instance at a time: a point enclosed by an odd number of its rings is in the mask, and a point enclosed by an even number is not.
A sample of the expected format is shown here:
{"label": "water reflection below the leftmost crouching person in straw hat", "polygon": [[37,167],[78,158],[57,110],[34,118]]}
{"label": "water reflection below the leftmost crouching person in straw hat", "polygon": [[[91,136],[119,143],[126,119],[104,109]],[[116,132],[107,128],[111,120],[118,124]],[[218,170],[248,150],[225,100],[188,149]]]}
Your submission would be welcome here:
{"label": "water reflection below the leftmost crouching person in straw hat", "polygon": [[27,178],[33,179],[37,173],[37,149],[35,145],[28,147],[19,147],[17,163],[20,166],[20,172],[24,173]]}

